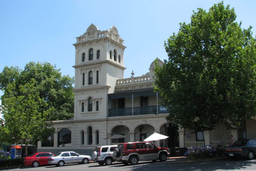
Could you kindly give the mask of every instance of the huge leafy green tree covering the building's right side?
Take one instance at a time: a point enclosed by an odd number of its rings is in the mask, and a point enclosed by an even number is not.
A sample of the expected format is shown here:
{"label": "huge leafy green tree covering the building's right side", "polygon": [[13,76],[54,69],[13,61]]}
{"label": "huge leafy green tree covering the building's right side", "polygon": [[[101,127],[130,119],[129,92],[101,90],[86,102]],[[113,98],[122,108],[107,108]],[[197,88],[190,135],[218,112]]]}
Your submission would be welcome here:
{"label": "huge leafy green tree covering the building's right side", "polygon": [[197,131],[220,123],[223,141],[225,125],[235,129],[256,115],[255,39],[252,27],[242,30],[235,20],[223,2],[198,8],[164,43],[168,61],[155,68],[167,120]]}

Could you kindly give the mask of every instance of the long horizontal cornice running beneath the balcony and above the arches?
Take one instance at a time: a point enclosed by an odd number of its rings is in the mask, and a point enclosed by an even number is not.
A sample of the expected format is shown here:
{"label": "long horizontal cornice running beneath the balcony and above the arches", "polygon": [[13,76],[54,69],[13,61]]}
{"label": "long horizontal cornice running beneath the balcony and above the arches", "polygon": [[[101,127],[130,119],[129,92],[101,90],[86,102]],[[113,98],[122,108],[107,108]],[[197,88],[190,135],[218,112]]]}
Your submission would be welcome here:
{"label": "long horizontal cornice running beneath the balcony and above the arches", "polygon": [[103,122],[103,121],[115,121],[115,120],[136,120],[136,119],[150,119],[150,118],[164,118],[168,116],[167,114],[154,114],[154,115],[140,115],[135,116],[131,115],[130,117],[115,117],[115,118],[106,118],[106,119],[90,119],[90,120],[55,120],[52,121],[52,124],[64,124],[64,123],[82,123],[82,122]]}

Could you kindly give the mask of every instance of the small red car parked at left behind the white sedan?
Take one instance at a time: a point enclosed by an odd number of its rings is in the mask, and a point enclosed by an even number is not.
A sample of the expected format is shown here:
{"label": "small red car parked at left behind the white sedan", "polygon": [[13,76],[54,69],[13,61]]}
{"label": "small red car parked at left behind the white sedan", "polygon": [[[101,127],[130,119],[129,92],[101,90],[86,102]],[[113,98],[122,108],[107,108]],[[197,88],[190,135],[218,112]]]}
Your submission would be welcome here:
{"label": "small red car parked at left behind the white sedan", "polygon": [[23,164],[26,166],[38,167],[40,165],[49,165],[48,158],[55,156],[50,152],[37,152],[28,157],[24,157]]}

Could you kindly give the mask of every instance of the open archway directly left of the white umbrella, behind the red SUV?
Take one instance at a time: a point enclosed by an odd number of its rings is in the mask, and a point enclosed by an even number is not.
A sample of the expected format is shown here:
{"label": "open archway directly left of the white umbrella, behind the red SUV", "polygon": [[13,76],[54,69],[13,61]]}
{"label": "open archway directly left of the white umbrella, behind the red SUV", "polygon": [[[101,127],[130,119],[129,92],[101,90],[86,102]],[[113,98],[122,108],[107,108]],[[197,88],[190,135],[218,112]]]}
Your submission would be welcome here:
{"label": "open archway directly left of the white umbrella, behind the red SUV", "polygon": [[134,141],[143,141],[155,132],[155,128],[148,124],[141,124],[134,129]]}

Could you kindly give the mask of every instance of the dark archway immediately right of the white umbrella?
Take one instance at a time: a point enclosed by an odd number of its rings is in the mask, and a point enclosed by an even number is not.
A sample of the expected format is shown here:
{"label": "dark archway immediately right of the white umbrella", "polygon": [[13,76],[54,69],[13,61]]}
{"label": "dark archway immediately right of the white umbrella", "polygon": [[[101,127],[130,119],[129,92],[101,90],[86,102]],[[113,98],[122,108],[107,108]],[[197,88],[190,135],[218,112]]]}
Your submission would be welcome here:
{"label": "dark archway immediately right of the white umbrella", "polygon": [[179,130],[179,127],[173,126],[171,123],[165,123],[164,125],[161,126],[160,128],[161,134],[165,136],[169,136],[169,138],[166,138],[165,140],[163,140],[163,144],[165,147],[168,147],[168,148],[180,147],[178,130]]}

